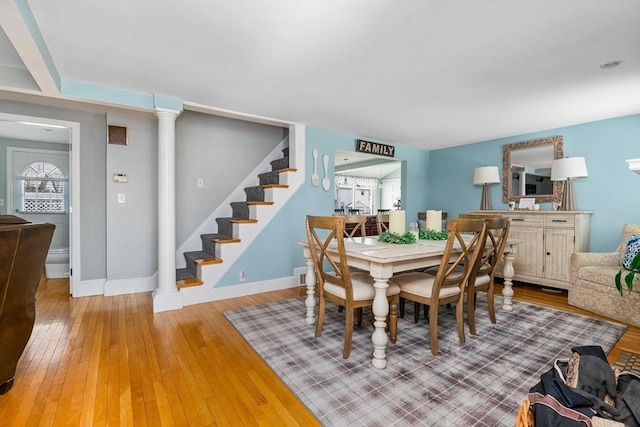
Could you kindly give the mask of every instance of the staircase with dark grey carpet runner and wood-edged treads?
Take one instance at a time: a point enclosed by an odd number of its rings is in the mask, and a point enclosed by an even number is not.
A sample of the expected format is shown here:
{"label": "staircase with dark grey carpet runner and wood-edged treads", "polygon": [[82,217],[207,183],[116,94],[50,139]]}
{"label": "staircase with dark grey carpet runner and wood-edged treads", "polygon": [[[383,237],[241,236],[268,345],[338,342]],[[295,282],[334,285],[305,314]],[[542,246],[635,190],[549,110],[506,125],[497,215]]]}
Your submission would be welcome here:
{"label": "staircase with dark grey carpet runner and wood-edged treads", "polygon": [[[239,258],[250,241],[273,217],[277,202],[286,198],[278,193],[289,189],[290,176],[297,169],[289,167],[289,147],[282,158],[270,162],[271,171],[258,175],[259,185],[244,188],[246,200],[231,202],[231,217],[216,218],[217,232],[200,235],[201,250],[184,252],[185,268],[176,270],[176,285],[184,294],[185,305],[204,302],[228,268]],[[264,169],[263,169],[264,170]],[[263,219],[264,224],[261,223]],[[246,241],[245,241],[246,240]],[[223,263],[230,263],[223,267]]]}

